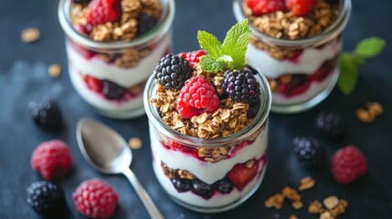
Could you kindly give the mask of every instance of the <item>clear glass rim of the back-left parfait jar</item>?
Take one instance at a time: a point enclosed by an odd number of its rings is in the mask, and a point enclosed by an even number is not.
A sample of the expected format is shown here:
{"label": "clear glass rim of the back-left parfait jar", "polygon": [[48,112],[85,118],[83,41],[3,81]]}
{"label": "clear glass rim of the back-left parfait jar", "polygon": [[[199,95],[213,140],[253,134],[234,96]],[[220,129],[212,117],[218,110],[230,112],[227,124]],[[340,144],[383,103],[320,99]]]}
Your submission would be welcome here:
{"label": "clear glass rim of the back-left parfait jar", "polygon": [[147,33],[138,36],[131,41],[111,41],[99,42],[84,36],[79,33],[70,21],[70,0],[60,0],[58,4],[58,21],[64,32],[72,40],[79,44],[90,48],[103,48],[103,49],[121,49],[127,47],[138,47],[152,41],[154,38],[164,36],[172,26],[175,17],[175,2],[174,0],[161,0],[163,5],[163,14],[158,20],[158,23]]}

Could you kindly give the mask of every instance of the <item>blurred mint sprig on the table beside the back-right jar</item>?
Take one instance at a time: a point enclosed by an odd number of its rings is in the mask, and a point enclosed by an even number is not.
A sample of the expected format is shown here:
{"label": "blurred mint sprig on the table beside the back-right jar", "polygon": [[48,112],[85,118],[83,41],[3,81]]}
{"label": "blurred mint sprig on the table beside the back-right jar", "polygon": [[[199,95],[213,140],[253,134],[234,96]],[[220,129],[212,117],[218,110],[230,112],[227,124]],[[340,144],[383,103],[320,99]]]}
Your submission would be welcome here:
{"label": "blurred mint sprig on the table beside the back-right jar", "polygon": [[366,64],[366,58],[376,57],[384,47],[386,47],[385,39],[373,36],[361,40],[353,52],[342,53],[337,86],[344,95],[348,96],[354,91],[359,68]]}

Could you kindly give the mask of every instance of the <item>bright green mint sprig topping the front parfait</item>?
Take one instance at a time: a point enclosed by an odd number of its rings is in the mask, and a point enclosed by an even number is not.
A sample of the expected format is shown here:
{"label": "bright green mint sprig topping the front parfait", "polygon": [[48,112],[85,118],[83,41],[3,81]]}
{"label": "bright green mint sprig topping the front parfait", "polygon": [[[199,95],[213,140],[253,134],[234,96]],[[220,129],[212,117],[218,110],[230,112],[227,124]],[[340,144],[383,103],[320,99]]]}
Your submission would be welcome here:
{"label": "bright green mint sprig topping the front parfait", "polygon": [[223,40],[219,42],[216,36],[198,31],[197,39],[207,55],[201,57],[200,67],[205,72],[217,72],[225,69],[239,69],[245,65],[245,53],[248,49],[250,28],[248,19],[232,26]]}

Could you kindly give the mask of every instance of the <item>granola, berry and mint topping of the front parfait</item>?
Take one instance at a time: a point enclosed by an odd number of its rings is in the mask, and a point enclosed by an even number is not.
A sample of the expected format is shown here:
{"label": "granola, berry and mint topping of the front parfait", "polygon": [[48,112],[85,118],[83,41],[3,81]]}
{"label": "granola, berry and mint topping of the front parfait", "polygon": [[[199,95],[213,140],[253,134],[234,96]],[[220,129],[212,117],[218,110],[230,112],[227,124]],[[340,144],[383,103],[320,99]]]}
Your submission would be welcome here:
{"label": "granola, berry and mint topping of the front parfait", "polygon": [[158,87],[151,101],[166,125],[202,139],[225,137],[249,125],[257,114],[248,113],[249,105],[260,105],[261,95],[253,69],[245,65],[249,36],[247,19],[231,27],[223,43],[199,31],[203,50],[167,55],[158,62]]}

